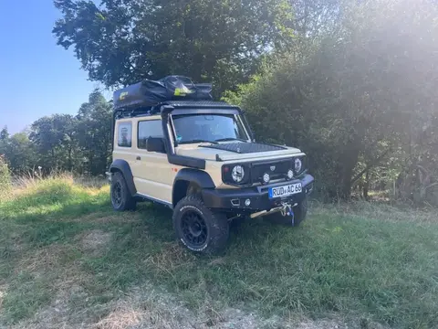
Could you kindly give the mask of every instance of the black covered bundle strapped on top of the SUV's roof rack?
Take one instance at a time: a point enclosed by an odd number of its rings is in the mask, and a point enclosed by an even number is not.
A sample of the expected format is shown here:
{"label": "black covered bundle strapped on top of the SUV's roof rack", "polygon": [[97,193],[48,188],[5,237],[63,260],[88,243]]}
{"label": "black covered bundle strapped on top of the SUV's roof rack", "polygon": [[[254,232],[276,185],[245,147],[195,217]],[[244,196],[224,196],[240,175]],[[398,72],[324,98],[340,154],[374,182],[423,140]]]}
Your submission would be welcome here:
{"label": "black covered bundle strapped on top of the SUV's roof rack", "polygon": [[164,101],[212,101],[212,84],[182,76],[143,80],[114,92],[114,110],[155,106]]}

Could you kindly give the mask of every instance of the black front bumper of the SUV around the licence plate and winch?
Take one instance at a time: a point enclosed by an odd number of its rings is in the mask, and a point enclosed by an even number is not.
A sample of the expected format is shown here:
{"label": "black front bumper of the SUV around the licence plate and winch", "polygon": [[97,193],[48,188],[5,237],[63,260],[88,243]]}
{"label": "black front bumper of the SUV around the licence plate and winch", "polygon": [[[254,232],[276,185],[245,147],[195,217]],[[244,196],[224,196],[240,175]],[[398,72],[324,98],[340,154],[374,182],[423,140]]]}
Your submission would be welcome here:
{"label": "black front bumper of the SUV around the licence plate and winch", "polygon": [[[253,213],[256,211],[270,210],[281,207],[284,202],[292,205],[301,202],[313,190],[314,178],[312,175],[304,175],[299,179],[283,181],[267,186],[255,186],[239,189],[203,189],[203,203],[206,207],[223,209],[236,213]],[[296,195],[286,197],[269,198],[270,187],[285,186],[301,182],[303,191]],[[250,200],[250,205],[245,206],[245,200]]]}

